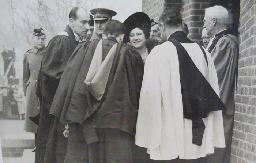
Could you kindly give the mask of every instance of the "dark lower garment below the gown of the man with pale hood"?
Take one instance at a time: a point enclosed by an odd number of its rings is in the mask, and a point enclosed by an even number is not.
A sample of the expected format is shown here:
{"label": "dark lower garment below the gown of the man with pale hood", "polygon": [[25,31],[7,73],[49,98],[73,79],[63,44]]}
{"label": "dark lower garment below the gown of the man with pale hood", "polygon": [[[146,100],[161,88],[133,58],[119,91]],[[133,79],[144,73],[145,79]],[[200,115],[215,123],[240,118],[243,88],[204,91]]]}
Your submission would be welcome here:
{"label": "dark lower garment below the gown of the man with pale hood", "polygon": [[83,125],[69,124],[65,163],[132,163],[131,138],[118,129],[96,128],[97,142],[87,144]]}

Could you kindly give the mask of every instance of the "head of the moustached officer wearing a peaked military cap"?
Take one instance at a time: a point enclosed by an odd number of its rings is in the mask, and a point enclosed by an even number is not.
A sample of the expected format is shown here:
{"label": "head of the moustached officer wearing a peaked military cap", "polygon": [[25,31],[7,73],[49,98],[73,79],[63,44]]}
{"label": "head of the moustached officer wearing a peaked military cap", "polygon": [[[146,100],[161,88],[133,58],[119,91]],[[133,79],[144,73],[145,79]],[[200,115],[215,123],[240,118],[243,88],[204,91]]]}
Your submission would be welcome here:
{"label": "head of the moustached officer wearing a peaked military cap", "polygon": [[94,8],[90,12],[94,15],[94,32],[90,41],[102,39],[106,22],[108,22],[109,19],[112,19],[113,16],[116,16],[116,12],[106,8]]}

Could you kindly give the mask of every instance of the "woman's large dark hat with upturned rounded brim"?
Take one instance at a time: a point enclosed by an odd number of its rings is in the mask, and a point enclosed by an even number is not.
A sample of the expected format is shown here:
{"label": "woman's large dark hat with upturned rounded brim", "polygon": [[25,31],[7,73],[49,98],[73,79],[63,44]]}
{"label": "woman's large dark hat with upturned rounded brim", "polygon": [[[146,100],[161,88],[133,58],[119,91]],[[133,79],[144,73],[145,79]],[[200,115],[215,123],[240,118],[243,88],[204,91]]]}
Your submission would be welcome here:
{"label": "woman's large dark hat with upturned rounded brim", "polygon": [[124,43],[129,42],[129,34],[133,29],[138,27],[144,27],[147,33],[149,33],[151,29],[150,18],[144,12],[136,12],[132,14],[124,21],[123,24],[125,27],[125,35],[123,40]]}

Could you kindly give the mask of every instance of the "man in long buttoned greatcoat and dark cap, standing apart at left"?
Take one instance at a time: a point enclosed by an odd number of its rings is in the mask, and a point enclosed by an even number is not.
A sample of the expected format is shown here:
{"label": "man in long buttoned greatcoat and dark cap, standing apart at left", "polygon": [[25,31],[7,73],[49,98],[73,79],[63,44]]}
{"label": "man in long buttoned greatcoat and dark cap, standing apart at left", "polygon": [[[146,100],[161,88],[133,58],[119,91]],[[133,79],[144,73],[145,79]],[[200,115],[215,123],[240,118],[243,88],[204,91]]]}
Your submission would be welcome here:
{"label": "man in long buttoned greatcoat and dark cap, standing apart at left", "polygon": [[[35,144],[37,141],[38,121],[32,121],[30,118],[36,117],[40,112],[39,99],[36,96],[37,80],[40,70],[43,52],[45,50],[45,33],[42,28],[35,28],[33,31],[34,47],[27,50],[23,60],[23,91],[26,99],[26,114],[24,130],[35,133]],[[35,148],[32,150],[35,151]]]}

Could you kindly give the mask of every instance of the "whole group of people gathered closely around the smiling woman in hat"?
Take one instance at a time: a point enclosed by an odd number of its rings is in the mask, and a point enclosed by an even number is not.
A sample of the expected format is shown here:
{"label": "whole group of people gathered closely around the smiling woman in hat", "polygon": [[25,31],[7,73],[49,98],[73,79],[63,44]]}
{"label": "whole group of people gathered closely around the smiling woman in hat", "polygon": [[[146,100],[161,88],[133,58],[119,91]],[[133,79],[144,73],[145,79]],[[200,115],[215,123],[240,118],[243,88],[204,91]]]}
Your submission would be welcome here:
{"label": "whole group of people gathered closely around the smiling woman in hat", "polygon": [[238,39],[227,10],[206,9],[204,47],[176,10],[116,14],[74,7],[46,47],[34,29],[23,90],[35,163],[229,163]]}

